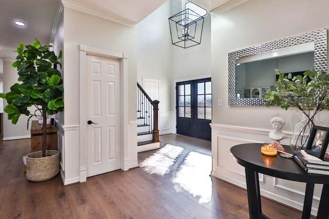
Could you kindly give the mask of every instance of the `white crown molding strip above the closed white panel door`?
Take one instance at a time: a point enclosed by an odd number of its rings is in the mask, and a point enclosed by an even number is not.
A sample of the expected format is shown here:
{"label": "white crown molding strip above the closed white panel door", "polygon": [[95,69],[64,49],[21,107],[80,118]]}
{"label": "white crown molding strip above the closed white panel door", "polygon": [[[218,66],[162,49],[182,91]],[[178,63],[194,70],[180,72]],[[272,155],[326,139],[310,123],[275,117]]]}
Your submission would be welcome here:
{"label": "white crown molding strip above the closed white panel door", "polygon": [[95,11],[93,9],[86,8],[85,6],[83,6],[81,4],[73,3],[70,0],[62,0],[62,3],[64,5],[64,7],[66,7],[66,8],[81,11],[83,13],[90,14],[90,15],[93,15],[93,16],[96,16],[96,17],[100,17],[100,18],[103,18],[103,19],[106,19],[108,21],[112,21],[112,22],[115,22],[115,23],[118,23],[118,24],[122,24],[122,25],[129,26],[129,27],[136,27],[136,25],[137,25],[136,22],[133,22],[129,19],[125,19],[123,17],[119,17],[119,16],[116,16],[116,15],[113,15],[113,14],[108,14],[108,13],[103,13],[103,12],[100,12],[100,11]]}

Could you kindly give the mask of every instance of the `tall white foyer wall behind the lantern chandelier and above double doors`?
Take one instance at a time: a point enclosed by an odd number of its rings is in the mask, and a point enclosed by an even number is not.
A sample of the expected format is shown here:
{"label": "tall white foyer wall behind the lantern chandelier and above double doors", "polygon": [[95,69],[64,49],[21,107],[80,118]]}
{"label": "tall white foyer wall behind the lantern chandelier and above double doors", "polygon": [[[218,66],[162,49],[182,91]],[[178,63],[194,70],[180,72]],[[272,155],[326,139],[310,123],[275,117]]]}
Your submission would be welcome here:
{"label": "tall white foyer wall behind the lantern chandelier and above double doors", "polygon": [[160,134],[176,133],[175,83],[209,77],[211,74],[210,15],[205,17],[200,45],[187,49],[172,45],[169,20],[182,11],[181,1],[171,0],[138,24],[137,81],[160,80]]}

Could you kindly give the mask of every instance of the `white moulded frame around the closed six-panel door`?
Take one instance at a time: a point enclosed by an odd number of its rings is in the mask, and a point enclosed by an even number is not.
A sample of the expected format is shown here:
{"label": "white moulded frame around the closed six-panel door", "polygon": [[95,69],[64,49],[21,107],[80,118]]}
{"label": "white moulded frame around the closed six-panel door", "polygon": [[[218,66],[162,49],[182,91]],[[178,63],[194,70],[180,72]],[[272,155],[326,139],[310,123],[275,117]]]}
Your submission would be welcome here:
{"label": "white moulded frame around the closed six-panel door", "polygon": [[80,182],[87,180],[86,146],[86,55],[120,59],[120,99],[121,99],[121,169],[129,169],[128,156],[128,54],[79,45],[80,53]]}

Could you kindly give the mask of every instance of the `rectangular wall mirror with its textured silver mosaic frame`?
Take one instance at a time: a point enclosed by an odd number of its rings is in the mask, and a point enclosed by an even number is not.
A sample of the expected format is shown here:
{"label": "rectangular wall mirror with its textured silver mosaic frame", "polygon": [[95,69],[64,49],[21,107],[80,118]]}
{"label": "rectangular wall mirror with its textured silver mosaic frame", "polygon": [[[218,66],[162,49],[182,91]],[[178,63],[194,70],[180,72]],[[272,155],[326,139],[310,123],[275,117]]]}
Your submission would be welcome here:
{"label": "rectangular wall mirror with its textured silver mosaic frame", "polygon": [[301,74],[327,71],[326,29],[316,30],[228,54],[229,106],[265,106],[266,90],[275,90],[275,69]]}

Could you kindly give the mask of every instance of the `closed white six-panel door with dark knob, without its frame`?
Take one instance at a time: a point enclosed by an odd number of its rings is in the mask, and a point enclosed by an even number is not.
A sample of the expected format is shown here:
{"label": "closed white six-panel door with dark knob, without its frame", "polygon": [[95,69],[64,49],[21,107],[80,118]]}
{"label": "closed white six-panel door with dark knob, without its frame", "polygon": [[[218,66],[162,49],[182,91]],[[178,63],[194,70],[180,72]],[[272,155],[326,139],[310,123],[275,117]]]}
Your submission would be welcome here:
{"label": "closed white six-panel door with dark knob, without its frame", "polygon": [[86,65],[86,118],[93,122],[86,128],[89,177],[121,168],[120,61],[87,55]]}

